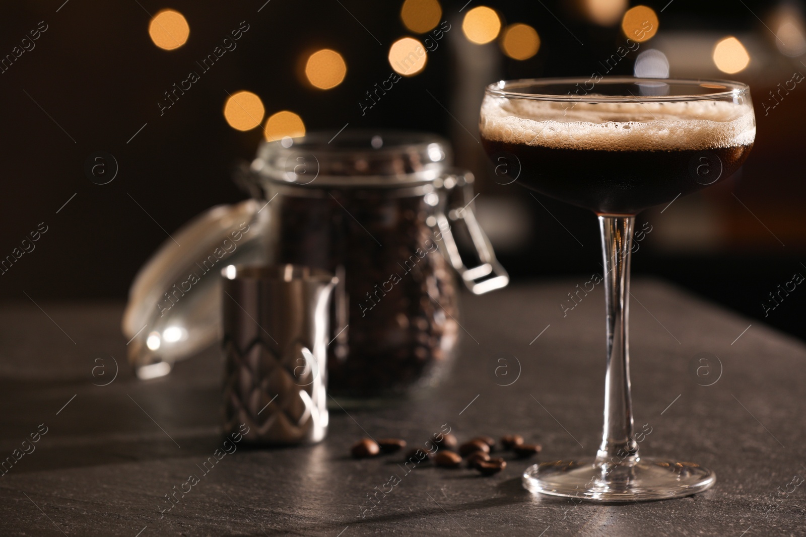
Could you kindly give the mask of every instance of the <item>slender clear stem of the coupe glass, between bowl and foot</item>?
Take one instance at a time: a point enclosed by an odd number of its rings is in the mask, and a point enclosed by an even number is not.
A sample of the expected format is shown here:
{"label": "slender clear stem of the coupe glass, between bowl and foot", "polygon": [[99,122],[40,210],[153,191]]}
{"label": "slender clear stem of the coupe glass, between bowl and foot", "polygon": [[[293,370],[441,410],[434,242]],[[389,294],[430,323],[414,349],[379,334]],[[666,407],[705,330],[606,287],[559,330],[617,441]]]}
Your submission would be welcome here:
{"label": "slender clear stem of the coupe glass, between bowl and foot", "polygon": [[605,427],[597,453],[601,463],[638,461],[629,394],[629,258],[635,217],[600,216],[607,310]]}

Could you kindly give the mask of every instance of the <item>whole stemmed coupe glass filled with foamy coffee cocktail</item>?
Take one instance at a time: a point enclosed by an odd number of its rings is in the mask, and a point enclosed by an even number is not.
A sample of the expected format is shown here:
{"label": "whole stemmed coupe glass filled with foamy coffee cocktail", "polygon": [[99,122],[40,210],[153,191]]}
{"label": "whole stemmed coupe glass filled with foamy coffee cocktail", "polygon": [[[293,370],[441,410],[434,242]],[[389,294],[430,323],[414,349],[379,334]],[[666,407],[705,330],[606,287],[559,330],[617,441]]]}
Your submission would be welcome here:
{"label": "whole stemmed coupe glass filled with foamy coffee cocktail", "polygon": [[629,394],[629,258],[637,213],[725,180],[742,165],[755,138],[750,89],[633,77],[501,81],[486,89],[480,132],[496,172],[591,209],[601,230],[607,369],[599,452],[530,466],[523,485],[601,502],[708,489],[713,471],[638,452],[642,436],[634,432]]}

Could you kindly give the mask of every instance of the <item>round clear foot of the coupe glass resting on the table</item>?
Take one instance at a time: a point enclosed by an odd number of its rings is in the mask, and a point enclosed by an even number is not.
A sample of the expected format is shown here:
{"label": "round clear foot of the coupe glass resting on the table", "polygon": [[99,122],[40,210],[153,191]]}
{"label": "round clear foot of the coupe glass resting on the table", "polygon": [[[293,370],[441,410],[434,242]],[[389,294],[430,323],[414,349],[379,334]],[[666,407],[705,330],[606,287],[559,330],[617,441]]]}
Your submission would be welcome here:
{"label": "round clear foot of the coupe glass resting on the table", "polygon": [[593,457],[542,462],[523,473],[523,486],[530,492],[595,502],[681,498],[702,492],[715,481],[715,473],[693,462],[649,457],[618,465]]}

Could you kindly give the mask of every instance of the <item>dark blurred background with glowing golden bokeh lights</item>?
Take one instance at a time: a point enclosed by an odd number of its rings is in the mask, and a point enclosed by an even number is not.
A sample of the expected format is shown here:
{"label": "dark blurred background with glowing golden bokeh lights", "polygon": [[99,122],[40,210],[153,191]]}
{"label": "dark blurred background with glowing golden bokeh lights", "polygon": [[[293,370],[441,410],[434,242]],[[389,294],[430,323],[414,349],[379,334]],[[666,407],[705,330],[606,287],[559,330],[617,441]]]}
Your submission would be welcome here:
{"label": "dark blurred background with glowing golden bokeh lights", "polygon": [[[15,261],[0,269],[2,299],[124,299],[168,233],[246,197],[233,170],[261,139],[343,127],[444,134],[478,178],[480,221],[515,282],[589,276],[600,270],[596,217],[497,184],[478,143],[479,105],[501,79],[635,73],[750,84],[758,135],[730,180],[638,217],[637,229],[651,231],[634,274],[806,337],[806,290],[774,310],[762,305],[806,275],[800,2],[47,0],[5,9],[0,258]],[[652,29],[628,42],[646,20]],[[107,184],[86,172],[99,151],[118,168]],[[35,248],[19,254],[37,231]]]}

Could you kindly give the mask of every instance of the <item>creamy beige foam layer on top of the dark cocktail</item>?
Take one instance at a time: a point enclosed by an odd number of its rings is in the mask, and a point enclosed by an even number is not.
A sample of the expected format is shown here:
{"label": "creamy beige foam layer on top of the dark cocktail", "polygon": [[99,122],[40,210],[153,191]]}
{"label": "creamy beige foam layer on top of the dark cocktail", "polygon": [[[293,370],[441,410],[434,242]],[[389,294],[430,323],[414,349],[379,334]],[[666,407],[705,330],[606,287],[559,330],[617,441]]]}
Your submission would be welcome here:
{"label": "creamy beige foam layer on top of the dark cocktail", "polygon": [[479,123],[488,140],[558,149],[704,150],[750,145],[750,105],[725,101],[590,103],[484,96]]}

